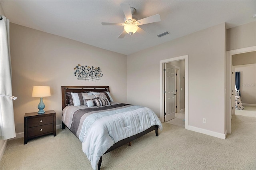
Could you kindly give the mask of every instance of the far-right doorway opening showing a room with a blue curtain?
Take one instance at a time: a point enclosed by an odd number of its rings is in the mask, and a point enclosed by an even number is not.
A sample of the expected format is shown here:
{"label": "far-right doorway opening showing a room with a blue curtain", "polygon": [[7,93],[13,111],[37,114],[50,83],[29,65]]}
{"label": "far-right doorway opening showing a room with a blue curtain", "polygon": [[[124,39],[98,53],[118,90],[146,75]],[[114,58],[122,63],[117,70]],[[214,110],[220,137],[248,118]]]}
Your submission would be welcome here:
{"label": "far-right doorway opening showing a room with a blue curtain", "polygon": [[[256,51],[232,55],[232,68],[233,73],[240,73],[240,94],[237,96],[236,89],[236,102],[232,101],[235,109],[231,115],[256,117]],[[236,83],[232,82],[232,87],[235,89]]]}

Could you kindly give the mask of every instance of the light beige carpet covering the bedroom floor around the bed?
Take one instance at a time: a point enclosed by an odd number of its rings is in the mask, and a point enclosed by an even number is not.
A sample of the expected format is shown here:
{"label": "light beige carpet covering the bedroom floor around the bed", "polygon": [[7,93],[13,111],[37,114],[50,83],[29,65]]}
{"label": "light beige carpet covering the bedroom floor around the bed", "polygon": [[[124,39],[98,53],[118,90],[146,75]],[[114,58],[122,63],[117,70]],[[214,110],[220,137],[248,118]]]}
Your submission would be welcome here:
{"label": "light beige carpet covering the bedroom floor around the bed", "polygon": [[[216,125],[218,126],[218,125]],[[226,140],[163,123],[156,137],[150,132],[102,157],[102,170],[255,170],[256,118],[232,116]],[[23,144],[10,140],[1,170],[91,170],[82,143],[68,129],[57,130]]]}

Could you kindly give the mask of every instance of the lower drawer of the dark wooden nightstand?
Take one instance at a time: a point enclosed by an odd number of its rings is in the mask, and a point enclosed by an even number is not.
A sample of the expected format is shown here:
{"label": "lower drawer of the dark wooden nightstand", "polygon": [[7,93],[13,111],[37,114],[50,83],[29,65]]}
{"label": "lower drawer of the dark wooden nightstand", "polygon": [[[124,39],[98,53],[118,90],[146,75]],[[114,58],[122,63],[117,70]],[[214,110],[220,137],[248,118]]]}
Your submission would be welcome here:
{"label": "lower drawer of the dark wooden nightstand", "polygon": [[28,128],[28,138],[41,135],[44,133],[53,132],[53,124],[42,125],[38,127]]}

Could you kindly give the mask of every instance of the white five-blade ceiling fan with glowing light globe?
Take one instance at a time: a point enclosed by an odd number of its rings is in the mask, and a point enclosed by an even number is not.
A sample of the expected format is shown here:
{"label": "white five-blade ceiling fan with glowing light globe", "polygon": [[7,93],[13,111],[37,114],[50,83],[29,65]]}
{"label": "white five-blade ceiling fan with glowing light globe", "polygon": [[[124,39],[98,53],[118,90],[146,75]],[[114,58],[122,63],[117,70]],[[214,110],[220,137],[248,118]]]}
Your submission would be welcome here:
{"label": "white five-blade ceiling fan with glowing light globe", "polygon": [[132,17],[132,15],[136,13],[135,8],[132,8],[130,4],[120,4],[120,5],[125,15],[124,23],[112,23],[112,22],[101,23],[103,26],[124,26],[124,31],[120,34],[118,38],[124,38],[126,34],[132,35],[135,32],[138,32],[139,34],[142,34],[142,35],[147,35],[149,33],[146,32],[145,30],[142,30],[138,26],[161,21],[159,14],[149,16],[141,20],[137,20],[137,18]]}

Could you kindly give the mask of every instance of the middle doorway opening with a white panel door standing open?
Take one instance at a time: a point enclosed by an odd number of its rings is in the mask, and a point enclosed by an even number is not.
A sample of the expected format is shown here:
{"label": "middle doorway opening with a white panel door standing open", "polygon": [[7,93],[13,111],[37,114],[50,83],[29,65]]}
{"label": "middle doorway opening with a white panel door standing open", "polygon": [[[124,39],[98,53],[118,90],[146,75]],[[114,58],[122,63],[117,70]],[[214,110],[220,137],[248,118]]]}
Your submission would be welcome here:
{"label": "middle doorway opening with a white panel door standing open", "polygon": [[185,60],[164,63],[164,121],[185,127]]}

